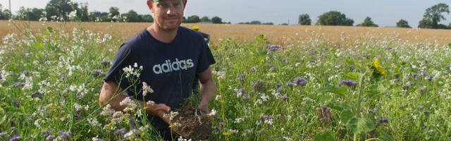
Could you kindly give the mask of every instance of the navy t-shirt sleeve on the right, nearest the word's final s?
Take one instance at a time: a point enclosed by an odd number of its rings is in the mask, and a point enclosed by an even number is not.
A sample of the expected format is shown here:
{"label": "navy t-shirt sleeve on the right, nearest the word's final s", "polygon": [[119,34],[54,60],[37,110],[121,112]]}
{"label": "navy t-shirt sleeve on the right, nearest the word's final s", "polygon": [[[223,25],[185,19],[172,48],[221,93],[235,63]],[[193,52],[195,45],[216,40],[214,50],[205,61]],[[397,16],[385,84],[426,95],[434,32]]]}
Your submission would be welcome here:
{"label": "navy t-shirt sleeve on the right, nearest the word's final s", "polygon": [[209,45],[204,42],[202,39],[202,49],[200,49],[199,54],[199,65],[197,66],[196,73],[202,73],[204,72],[211,64],[216,63],[214,60],[213,54],[211,54],[211,50],[209,48]]}

